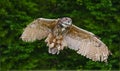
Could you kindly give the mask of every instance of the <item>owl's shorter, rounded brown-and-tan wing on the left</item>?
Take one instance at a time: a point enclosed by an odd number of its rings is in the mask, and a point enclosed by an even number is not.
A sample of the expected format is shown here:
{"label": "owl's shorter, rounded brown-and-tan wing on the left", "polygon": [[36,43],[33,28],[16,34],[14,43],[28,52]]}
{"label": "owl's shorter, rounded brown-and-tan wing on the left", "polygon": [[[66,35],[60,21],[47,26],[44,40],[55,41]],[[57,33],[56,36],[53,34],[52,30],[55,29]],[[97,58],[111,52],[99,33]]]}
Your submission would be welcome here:
{"label": "owl's shorter, rounded brown-and-tan wing on the left", "polygon": [[21,38],[23,41],[34,41],[45,38],[55,27],[58,19],[38,18],[31,22],[25,29]]}

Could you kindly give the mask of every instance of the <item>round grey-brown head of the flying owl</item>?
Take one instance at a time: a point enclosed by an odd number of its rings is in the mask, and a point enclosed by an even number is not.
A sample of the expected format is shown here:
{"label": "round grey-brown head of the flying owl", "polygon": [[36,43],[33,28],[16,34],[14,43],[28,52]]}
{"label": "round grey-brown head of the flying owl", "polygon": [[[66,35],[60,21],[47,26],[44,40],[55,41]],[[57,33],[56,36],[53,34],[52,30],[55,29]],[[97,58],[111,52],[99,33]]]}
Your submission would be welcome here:
{"label": "round grey-brown head of the flying owl", "polygon": [[72,25],[72,19],[69,17],[60,18],[59,25],[63,28],[70,27]]}

